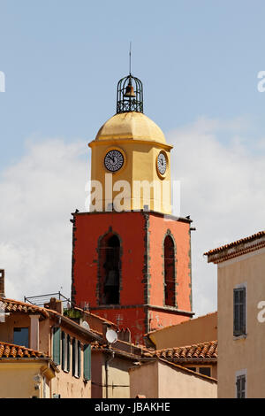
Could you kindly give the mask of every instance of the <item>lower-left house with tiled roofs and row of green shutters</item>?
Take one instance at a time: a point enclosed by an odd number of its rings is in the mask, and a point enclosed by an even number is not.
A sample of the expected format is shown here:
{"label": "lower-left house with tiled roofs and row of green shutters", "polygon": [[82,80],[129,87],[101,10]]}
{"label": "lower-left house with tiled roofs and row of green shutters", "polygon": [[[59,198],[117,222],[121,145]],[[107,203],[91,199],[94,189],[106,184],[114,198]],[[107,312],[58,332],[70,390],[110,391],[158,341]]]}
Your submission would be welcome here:
{"label": "lower-left house with tiled roofs and row of green shutters", "polygon": [[0,396],[91,397],[91,343],[102,336],[58,312],[55,300],[49,308],[0,302]]}

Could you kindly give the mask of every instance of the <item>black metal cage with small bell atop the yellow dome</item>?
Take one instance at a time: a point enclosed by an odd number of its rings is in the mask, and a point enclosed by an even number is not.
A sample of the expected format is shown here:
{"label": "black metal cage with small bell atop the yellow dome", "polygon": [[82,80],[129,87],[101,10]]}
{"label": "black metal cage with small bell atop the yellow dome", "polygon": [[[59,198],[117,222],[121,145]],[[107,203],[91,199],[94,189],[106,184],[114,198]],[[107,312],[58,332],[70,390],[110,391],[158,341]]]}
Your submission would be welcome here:
{"label": "black metal cage with small bell atop the yellow dome", "polygon": [[117,83],[117,114],[143,112],[142,83],[130,73]]}

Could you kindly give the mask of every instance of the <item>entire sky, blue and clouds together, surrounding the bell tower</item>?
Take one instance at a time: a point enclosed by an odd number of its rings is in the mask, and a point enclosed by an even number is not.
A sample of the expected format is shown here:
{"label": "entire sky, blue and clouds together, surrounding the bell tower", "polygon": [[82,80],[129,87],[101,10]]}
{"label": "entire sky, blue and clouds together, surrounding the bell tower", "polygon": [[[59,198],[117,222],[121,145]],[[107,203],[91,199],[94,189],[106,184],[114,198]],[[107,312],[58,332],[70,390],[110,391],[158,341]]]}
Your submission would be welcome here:
{"label": "entire sky, blue and clouds together, surrounding the bell tower", "polygon": [[202,253],[264,228],[264,15],[261,0],[0,0],[0,268],[9,297],[70,294],[69,218],[86,198],[87,143],[116,111],[133,42],[144,111],[174,144],[172,179],[197,228],[194,310],[216,309],[216,267]]}

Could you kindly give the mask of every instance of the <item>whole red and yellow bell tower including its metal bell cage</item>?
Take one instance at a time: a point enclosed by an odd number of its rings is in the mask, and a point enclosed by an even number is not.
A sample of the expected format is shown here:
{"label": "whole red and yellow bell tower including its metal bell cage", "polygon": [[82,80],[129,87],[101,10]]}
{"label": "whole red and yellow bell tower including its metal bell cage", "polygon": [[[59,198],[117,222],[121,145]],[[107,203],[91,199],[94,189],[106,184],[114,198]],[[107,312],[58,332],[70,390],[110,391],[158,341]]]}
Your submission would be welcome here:
{"label": "whole red and yellow bell tower including its metal bell cage", "polygon": [[129,327],[133,342],[193,316],[189,218],[171,215],[170,150],[143,113],[141,81],[89,143],[91,204],[72,213],[72,302]]}

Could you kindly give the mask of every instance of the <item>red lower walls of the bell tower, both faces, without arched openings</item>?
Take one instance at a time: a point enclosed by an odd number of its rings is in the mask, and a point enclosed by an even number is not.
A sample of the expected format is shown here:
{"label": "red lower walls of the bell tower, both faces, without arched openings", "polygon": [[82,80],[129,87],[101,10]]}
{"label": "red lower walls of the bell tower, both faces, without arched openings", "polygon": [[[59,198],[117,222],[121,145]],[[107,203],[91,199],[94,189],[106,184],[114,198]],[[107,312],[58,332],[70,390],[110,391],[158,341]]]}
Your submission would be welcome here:
{"label": "red lower walls of the bell tower, both faces, without arched openings", "polygon": [[[164,220],[162,214],[145,212],[102,212],[74,215],[72,256],[72,300],[120,327],[129,327],[133,342],[161,325],[187,320],[184,315],[150,311],[144,304],[163,307],[163,239],[173,236],[177,250],[177,305],[191,311],[189,222]],[[148,227],[148,233],[147,233]],[[99,307],[98,243],[108,232],[118,235],[121,246],[120,306]],[[131,307],[126,307],[126,306]],[[150,325],[150,327],[149,327]]]}

